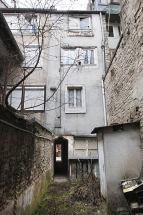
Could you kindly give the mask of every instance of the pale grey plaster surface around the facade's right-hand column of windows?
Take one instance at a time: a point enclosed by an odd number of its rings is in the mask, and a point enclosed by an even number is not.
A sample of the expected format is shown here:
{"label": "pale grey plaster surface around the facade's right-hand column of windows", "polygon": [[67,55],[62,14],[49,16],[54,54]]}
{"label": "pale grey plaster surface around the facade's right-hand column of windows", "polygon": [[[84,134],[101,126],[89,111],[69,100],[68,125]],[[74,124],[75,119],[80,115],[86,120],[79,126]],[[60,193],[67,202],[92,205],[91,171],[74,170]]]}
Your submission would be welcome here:
{"label": "pale grey plaster surface around the facade's right-hand column of windows", "polygon": [[[51,21],[56,18],[56,15],[52,15]],[[90,134],[93,127],[97,125],[102,126],[104,124],[101,90],[102,55],[100,18],[98,14],[92,15],[93,37],[68,36],[67,15],[62,17],[61,28],[63,30],[55,32],[54,37],[51,37],[50,39],[47,98],[53,93],[50,88],[57,87],[60,82],[60,75],[62,80],[63,75],[68,70],[67,66],[63,66],[64,68],[60,67],[60,47],[97,47],[98,67],[72,66],[61,84],[61,103],[60,88],[54,94],[54,99],[50,99],[47,103],[45,122],[47,123],[47,126],[50,126],[50,128],[59,135]],[[62,72],[60,73],[59,71]],[[65,113],[65,85],[80,84],[85,86],[86,113]],[[61,109],[59,108],[60,105]]]}

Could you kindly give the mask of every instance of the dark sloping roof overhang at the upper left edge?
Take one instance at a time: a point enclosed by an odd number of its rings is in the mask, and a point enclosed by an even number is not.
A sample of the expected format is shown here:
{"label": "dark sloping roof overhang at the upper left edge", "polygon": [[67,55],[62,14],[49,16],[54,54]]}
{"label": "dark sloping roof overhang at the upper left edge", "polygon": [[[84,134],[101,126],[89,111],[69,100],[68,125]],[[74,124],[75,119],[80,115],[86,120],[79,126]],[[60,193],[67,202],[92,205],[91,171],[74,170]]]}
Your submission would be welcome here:
{"label": "dark sloping roof overhang at the upper left edge", "polygon": [[14,54],[16,59],[19,59],[20,61],[23,61],[23,55],[17,45],[16,40],[14,39],[14,36],[2,14],[0,11],[0,38],[3,41],[6,49]]}

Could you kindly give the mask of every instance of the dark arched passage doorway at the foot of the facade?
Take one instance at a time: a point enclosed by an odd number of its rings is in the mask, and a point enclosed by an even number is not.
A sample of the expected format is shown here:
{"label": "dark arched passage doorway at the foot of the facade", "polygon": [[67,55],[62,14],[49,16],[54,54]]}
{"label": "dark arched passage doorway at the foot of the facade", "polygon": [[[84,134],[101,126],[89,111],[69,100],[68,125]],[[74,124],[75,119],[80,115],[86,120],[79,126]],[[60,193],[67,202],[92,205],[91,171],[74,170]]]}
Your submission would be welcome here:
{"label": "dark arched passage doorway at the foot of the facade", "polygon": [[68,141],[59,137],[54,142],[54,175],[68,174]]}

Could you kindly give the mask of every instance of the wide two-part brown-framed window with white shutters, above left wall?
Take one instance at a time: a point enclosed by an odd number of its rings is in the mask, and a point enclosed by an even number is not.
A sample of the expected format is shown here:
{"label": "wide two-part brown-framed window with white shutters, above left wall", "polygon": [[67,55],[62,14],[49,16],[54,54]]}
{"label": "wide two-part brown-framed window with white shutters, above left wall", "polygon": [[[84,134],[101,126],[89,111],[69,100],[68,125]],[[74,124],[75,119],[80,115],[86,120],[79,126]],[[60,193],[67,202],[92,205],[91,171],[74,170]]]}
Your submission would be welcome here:
{"label": "wide two-part brown-framed window with white shutters, above left wall", "polygon": [[17,87],[9,96],[9,104],[17,110],[44,111],[45,92],[45,86]]}

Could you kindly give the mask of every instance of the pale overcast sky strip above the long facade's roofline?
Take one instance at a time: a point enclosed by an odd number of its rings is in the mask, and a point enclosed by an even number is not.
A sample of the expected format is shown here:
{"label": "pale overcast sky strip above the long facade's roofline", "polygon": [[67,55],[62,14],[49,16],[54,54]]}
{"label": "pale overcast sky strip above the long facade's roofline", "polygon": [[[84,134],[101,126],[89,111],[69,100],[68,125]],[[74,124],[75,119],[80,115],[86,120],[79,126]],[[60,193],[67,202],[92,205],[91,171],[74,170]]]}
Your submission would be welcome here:
{"label": "pale overcast sky strip above the long facade's roofline", "polygon": [[21,8],[50,8],[55,5],[58,10],[86,10],[88,0],[5,0],[9,6],[14,7],[14,1],[17,7]]}

